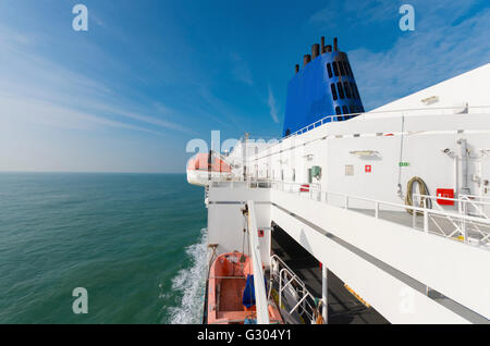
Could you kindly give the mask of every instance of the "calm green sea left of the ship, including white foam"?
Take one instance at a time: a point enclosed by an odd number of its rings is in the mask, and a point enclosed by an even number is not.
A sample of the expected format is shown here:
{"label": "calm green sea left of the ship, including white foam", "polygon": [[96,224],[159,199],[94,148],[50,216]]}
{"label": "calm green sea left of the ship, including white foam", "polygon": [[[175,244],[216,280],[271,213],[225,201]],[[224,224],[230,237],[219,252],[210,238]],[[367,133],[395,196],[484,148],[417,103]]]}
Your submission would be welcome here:
{"label": "calm green sea left of the ship, including white foam", "polygon": [[183,174],[0,173],[0,323],[199,323],[205,226]]}

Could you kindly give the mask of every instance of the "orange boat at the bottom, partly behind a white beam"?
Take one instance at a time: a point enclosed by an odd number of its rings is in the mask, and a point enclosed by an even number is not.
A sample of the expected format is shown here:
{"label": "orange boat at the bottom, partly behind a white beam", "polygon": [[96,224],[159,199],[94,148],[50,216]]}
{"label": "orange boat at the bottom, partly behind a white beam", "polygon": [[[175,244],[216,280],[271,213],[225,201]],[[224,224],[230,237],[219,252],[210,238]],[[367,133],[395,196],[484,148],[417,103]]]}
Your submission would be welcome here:
{"label": "orange boat at the bottom, partly behind a white beam", "polygon": [[[256,321],[252,259],[242,252],[220,255],[209,271],[207,292],[208,324],[252,324]],[[273,302],[270,323],[283,323]]]}

